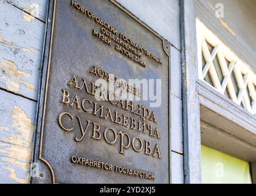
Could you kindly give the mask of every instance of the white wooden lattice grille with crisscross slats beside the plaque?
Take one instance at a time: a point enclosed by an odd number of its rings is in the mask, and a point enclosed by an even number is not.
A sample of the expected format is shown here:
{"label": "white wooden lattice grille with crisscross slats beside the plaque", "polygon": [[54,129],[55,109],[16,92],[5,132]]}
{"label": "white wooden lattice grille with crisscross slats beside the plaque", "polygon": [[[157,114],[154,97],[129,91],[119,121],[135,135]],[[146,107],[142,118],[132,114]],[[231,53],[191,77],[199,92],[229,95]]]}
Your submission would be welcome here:
{"label": "white wooden lattice grille with crisscross slats beside the plaque", "polygon": [[256,75],[245,62],[196,21],[199,79],[256,115]]}

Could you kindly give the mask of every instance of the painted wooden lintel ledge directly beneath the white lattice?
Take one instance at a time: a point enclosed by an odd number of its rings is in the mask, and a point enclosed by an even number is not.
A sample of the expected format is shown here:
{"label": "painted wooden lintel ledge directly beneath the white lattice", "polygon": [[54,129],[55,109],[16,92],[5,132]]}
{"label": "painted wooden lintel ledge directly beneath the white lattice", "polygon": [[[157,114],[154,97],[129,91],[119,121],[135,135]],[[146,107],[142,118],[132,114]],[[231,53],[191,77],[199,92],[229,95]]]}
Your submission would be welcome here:
{"label": "painted wooden lintel ledge directly beneath the white lattice", "polygon": [[[206,82],[197,82],[201,119],[251,145],[256,143],[256,119],[245,108],[217,92]],[[208,110],[208,111],[207,111]]]}

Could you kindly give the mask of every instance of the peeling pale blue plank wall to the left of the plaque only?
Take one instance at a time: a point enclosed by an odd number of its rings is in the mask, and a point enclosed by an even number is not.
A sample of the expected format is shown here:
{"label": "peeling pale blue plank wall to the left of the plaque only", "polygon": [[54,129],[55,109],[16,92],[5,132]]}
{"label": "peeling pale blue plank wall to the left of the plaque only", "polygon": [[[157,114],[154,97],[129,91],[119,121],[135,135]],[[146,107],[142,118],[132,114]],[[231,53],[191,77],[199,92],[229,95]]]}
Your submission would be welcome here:
{"label": "peeling pale blue plank wall to the left of the plaque only", "polygon": [[0,183],[29,183],[46,0],[0,0]]}

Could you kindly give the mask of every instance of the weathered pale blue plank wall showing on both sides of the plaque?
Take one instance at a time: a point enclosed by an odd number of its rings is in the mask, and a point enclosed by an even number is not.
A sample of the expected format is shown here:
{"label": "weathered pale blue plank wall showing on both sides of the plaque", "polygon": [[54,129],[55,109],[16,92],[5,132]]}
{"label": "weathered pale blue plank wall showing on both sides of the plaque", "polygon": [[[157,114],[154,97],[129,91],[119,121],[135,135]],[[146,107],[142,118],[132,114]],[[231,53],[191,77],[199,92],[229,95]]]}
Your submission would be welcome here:
{"label": "weathered pale blue plank wall showing on both sides of the plaque", "polygon": [[[172,183],[183,183],[179,0],[118,0],[172,43]],[[28,183],[46,0],[0,0],[0,183]]]}

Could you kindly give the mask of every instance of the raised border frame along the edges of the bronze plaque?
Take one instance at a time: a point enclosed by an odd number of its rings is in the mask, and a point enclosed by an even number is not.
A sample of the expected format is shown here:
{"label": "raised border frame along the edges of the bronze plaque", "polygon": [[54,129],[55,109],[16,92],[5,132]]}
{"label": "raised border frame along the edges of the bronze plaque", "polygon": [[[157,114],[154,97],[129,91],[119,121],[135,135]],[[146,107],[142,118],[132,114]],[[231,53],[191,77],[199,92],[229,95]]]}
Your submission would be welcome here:
{"label": "raised border frame along the edges of the bronze plaque", "polygon": [[[171,149],[171,55],[170,55],[170,46],[171,44],[167,42],[164,37],[160,36],[156,31],[150,28],[150,26],[146,25],[138,19],[133,13],[129,10],[121,6],[116,0],[108,0],[113,3],[114,6],[121,9],[124,13],[129,15],[133,20],[143,26],[143,28],[150,31],[154,36],[158,37],[162,41],[162,48],[168,57],[168,149],[169,149],[169,183],[172,183],[172,165],[171,165],[171,157],[172,157],[172,149]],[[48,85],[49,85],[49,74],[50,74],[50,61],[52,55],[52,40],[54,37],[54,25],[55,25],[55,10],[56,10],[56,2],[57,0],[48,0],[47,4],[47,15],[46,15],[46,28],[45,28],[45,36],[44,36],[44,48],[42,53],[42,70],[41,70],[41,77],[40,77],[40,88],[38,94],[38,107],[37,107],[37,114],[36,114],[36,127],[35,127],[35,136],[34,136],[34,149],[33,149],[33,162],[37,160],[41,160],[46,167],[49,168],[51,181],[52,184],[58,184],[55,180],[54,168],[47,162],[46,159],[42,157],[42,143],[43,143],[43,135],[44,135],[44,120],[46,115],[46,103],[47,103],[47,92],[48,92]],[[32,168],[31,168],[32,169]],[[30,183],[34,183],[34,178],[30,176]]]}

